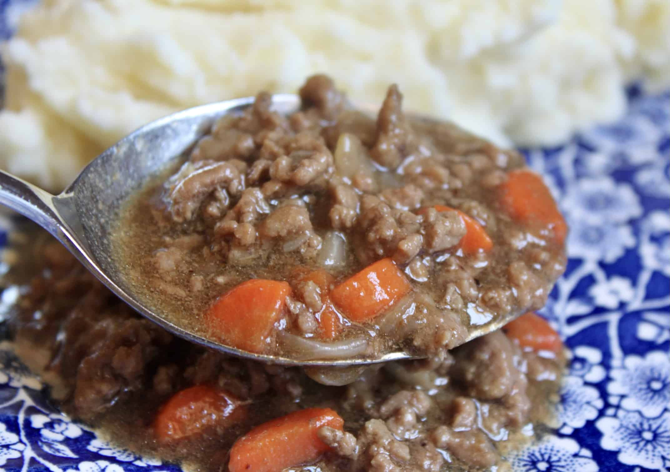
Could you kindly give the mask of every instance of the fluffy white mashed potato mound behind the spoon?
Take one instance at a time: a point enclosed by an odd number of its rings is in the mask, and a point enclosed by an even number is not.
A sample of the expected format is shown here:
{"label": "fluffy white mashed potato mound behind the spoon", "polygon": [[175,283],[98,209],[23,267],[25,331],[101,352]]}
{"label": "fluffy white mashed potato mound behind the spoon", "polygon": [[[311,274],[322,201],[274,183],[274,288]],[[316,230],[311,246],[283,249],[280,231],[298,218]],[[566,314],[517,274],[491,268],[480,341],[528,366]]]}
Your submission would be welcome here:
{"label": "fluffy white mashed potato mound behind the spoon", "polygon": [[614,120],[670,83],[670,0],[43,0],[2,45],[0,166],[50,189],[142,124],[316,72],[501,144]]}

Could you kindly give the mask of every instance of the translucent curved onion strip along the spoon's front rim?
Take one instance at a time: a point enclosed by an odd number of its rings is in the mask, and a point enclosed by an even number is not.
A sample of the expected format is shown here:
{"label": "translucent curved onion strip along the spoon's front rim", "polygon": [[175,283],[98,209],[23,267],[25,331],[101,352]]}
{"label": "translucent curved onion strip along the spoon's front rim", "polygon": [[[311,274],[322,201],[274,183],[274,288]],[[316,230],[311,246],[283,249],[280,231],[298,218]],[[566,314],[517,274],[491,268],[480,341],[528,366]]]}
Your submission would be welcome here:
{"label": "translucent curved onion strip along the spoon's front rim", "polygon": [[368,350],[368,341],[362,336],[341,341],[321,342],[281,332],[279,340],[283,348],[295,351],[299,360],[322,360],[352,358]]}

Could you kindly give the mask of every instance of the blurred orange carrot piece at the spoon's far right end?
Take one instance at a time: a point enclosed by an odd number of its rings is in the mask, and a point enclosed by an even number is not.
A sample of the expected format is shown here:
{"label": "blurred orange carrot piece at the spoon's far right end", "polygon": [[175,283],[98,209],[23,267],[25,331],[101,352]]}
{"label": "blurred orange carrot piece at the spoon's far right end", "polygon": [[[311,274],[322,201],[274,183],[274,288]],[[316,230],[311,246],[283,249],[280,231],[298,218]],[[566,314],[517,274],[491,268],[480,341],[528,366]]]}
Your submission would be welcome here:
{"label": "blurred orange carrot piece at the spoon's far right end", "polygon": [[500,185],[500,200],[503,209],[516,221],[541,234],[549,231],[559,244],[565,241],[565,219],[541,176],[535,172],[527,169],[510,172],[507,182]]}

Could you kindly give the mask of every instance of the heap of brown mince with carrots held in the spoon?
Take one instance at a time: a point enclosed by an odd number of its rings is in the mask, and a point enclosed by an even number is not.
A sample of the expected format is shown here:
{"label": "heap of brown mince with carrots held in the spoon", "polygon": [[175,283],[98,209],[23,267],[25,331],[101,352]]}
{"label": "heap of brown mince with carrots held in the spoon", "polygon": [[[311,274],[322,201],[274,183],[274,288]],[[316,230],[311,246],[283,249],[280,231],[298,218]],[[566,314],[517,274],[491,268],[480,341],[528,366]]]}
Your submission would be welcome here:
{"label": "heap of brown mince with carrots held in the spoon", "polygon": [[326,76],[299,95],[289,116],[261,93],[220,118],[129,204],[115,247],[147,306],[304,359],[444,358],[470,328],[543,306],[565,223],[517,152],[406,116],[397,86],[376,119]]}

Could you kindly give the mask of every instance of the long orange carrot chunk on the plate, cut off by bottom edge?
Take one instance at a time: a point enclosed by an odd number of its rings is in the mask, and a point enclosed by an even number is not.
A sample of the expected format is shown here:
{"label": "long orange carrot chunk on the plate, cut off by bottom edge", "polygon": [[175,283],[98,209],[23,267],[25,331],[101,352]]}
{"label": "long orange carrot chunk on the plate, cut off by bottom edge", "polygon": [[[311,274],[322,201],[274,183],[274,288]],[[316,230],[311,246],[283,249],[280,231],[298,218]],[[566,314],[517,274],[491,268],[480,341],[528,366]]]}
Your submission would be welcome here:
{"label": "long orange carrot chunk on the plate, cut off by bottom edge", "polygon": [[317,435],[329,426],[342,431],[344,420],[330,408],[307,408],[255,427],[230,449],[230,472],[280,472],[316,461],[330,449]]}

